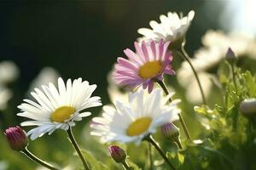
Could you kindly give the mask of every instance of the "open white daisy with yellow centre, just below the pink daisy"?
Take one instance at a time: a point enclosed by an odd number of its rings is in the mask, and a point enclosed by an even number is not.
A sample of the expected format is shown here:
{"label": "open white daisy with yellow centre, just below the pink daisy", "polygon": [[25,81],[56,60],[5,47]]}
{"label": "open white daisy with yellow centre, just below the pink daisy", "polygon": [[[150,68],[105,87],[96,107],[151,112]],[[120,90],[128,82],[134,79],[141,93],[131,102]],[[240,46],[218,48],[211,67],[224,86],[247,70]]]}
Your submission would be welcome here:
{"label": "open white daisy with yellow centre, just below the pink daisy", "polygon": [[104,106],[102,117],[92,119],[94,130],[91,135],[100,136],[102,142],[136,142],[140,144],[148,133],[154,133],[157,127],[178,119],[179,100],[166,104],[171,95],[162,96],[160,89],[151,94],[140,90],[129,95],[129,102],[116,101],[114,107]]}

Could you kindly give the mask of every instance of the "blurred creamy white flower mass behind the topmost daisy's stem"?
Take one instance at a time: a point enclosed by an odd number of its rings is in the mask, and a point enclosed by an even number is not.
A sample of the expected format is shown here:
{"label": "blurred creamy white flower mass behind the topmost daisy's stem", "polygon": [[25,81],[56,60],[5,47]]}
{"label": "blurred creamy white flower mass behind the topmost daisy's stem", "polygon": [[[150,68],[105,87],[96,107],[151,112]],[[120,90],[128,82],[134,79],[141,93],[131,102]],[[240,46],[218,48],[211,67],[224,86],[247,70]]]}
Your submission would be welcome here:
{"label": "blurred creamy white flower mass behind the topmost daisy's stem", "polygon": [[[217,77],[208,73],[210,69],[217,66],[223,59],[228,48],[236,53],[238,58],[248,56],[256,60],[256,42],[253,37],[241,33],[224,34],[223,31],[207,31],[202,37],[203,48],[195,52],[192,64],[198,73],[202,88],[209,96],[212,81]],[[201,103],[201,94],[199,87],[196,85],[193,71],[187,61],[182,63],[181,68],[177,71],[177,80],[186,88],[186,97],[192,103]]]}

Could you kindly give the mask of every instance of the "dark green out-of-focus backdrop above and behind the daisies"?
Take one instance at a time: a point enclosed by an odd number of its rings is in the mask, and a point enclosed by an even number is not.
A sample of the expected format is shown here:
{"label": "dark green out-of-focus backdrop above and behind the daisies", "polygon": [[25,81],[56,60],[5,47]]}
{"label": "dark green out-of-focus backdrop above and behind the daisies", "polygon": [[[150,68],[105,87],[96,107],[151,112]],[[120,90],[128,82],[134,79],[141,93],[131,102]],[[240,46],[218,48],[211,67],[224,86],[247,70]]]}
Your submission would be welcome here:
{"label": "dark green out-of-focus backdrop above and behind the daisies", "polygon": [[[20,68],[21,90],[46,65],[64,78],[83,77],[106,94],[106,76],[123,49],[132,48],[137,29],[159,21],[168,11],[195,10],[188,33],[188,49],[201,45],[207,29],[218,28],[221,1],[0,1],[0,59],[11,59]],[[218,8],[219,10],[219,8]],[[208,14],[209,13],[209,14]],[[212,16],[211,16],[212,14]]]}

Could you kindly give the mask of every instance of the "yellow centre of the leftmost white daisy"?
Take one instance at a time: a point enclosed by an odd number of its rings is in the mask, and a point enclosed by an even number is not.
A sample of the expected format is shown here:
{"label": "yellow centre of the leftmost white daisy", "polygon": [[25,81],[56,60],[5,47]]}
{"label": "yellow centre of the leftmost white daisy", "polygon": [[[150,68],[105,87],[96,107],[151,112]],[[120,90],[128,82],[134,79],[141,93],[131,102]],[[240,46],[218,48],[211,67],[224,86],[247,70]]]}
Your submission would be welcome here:
{"label": "yellow centre of the leftmost white daisy", "polygon": [[50,119],[52,122],[65,122],[75,111],[75,108],[71,106],[62,106],[51,114]]}

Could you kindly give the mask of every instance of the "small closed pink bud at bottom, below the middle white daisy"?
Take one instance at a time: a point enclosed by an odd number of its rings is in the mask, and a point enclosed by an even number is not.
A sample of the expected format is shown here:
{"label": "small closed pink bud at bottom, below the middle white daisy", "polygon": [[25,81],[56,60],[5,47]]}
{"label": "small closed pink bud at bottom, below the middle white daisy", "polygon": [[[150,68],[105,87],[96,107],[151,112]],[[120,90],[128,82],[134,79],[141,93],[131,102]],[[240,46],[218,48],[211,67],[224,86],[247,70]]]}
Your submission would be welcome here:
{"label": "small closed pink bud at bottom, below the middle white daisy", "polygon": [[110,152],[111,157],[113,158],[113,161],[117,163],[122,163],[125,161],[127,155],[125,153],[125,150],[120,148],[117,145],[110,145],[108,147],[108,150]]}

